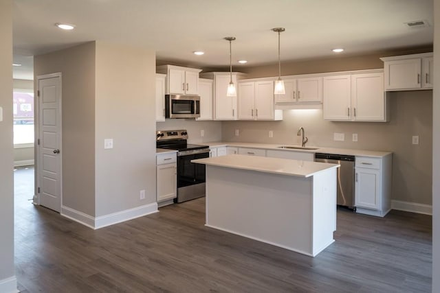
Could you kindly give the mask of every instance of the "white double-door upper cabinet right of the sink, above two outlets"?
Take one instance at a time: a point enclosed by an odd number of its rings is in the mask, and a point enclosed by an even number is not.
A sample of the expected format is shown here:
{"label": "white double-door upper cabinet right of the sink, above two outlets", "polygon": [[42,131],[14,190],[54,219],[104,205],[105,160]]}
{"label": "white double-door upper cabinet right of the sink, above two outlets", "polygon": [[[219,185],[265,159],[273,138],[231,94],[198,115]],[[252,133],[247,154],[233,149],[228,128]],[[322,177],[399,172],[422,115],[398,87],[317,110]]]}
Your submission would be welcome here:
{"label": "white double-door upper cabinet right of the sink, above two outlets", "polygon": [[322,95],[322,113],[326,120],[386,121],[384,74],[381,69],[325,76]]}

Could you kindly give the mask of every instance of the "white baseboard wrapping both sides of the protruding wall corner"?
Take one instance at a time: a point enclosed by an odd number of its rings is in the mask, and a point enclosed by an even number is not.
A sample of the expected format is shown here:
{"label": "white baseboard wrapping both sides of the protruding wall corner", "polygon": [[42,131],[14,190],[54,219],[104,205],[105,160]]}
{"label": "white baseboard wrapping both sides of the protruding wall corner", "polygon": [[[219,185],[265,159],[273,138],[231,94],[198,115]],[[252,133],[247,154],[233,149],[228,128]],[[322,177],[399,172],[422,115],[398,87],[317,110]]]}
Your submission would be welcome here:
{"label": "white baseboard wrapping both sides of the protruding wall corner", "polygon": [[126,209],[124,211],[118,211],[116,213],[102,215],[95,218],[91,215],[87,215],[86,213],[76,211],[69,207],[61,207],[61,215],[92,229],[99,229],[113,224],[118,224],[120,222],[139,218],[144,215],[149,215],[151,213],[157,213],[157,211],[157,202],[153,202],[151,204],[146,204],[141,207]]}

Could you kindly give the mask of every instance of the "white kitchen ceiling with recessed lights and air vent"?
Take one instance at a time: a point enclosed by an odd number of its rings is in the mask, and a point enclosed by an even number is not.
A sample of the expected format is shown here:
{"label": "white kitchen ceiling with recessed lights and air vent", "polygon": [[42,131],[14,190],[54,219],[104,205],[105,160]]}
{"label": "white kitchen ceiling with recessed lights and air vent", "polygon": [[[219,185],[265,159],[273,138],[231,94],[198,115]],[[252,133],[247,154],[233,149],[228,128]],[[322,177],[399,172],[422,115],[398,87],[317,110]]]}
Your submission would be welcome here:
{"label": "white kitchen ceiling with recessed lights and air vent", "polygon": [[[157,60],[198,67],[240,59],[255,66],[281,60],[431,45],[432,0],[14,0],[14,62],[90,40],[105,40],[153,49]],[[429,27],[404,23],[428,21]],[[54,23],[72,23],[62,31]],[[195,56],[192,51],[206,54]],[[28,64],[26,63],[26,64]],[[240,65],[243,66],[243,65]],[[14,67],[23,78],[28,65]],[[28,73],[29,75],[29,73]],[[31,75],[32,76],[32,75]]]}

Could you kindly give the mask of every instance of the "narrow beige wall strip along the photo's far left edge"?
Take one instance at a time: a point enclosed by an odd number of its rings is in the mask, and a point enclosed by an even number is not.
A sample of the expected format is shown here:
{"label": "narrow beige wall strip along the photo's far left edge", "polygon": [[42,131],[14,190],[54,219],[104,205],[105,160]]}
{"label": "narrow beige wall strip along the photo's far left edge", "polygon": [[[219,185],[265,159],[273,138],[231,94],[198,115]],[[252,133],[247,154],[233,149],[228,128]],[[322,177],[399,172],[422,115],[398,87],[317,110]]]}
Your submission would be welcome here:
{"label": "narrow beige wall strip along the photo's far left edge", "polygon": [[[0,1],[0,291],[16,286],[14,278],[14,187],[12,149],[12,1]],[[8,285],[12,287],[8,288]]]}

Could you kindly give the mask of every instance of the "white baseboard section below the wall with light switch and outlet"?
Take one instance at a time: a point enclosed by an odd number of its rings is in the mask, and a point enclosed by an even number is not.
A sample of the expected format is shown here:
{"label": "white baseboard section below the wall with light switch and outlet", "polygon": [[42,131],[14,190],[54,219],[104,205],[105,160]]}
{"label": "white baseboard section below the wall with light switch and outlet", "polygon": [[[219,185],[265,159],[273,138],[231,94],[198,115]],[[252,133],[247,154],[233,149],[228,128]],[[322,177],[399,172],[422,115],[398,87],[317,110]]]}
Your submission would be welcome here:
{"label": "white baseboard section below the wall with light switch and outlet", "polygon": [[126,209],[125,211],[118,211],[109,215],[102,215],[95,218],[95,228],[103,228],[120,222],[125,222],[131,219],[139,218],[151,213],[157,213],[157,202],[146,204],[141,207],[135,207],[133,209]]}

